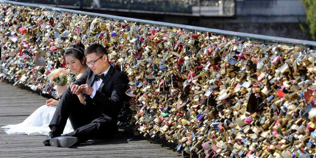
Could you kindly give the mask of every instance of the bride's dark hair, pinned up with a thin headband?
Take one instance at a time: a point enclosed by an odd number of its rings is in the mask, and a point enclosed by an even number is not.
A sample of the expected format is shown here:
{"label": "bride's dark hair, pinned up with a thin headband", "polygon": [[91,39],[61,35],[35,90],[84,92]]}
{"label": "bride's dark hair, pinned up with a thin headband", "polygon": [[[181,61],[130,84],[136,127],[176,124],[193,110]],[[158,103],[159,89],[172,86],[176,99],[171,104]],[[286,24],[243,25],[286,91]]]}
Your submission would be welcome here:
{"label": "bride's dark hair, pinned up with a thin headband", "polygon": [[65,57],[69,55],[73,55],[75,58],[80,60],[82,63],[86,63],[85,58],[85,46],[81,42],[77,42],[73,45],[70,45],[65,51]]}

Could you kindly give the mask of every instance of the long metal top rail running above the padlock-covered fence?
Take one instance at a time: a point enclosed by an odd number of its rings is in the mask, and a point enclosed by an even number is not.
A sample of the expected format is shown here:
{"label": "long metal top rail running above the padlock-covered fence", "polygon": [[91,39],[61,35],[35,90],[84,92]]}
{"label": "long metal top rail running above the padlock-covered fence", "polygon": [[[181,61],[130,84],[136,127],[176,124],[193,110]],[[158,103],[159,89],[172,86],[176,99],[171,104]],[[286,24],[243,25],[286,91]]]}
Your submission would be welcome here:
{"label": "long metal top rail running above the padlock-covered fence", "polygon": [[156,21],[141,20],[141,19],[113,16],[113,15],[107,15],[107,14],[90,13],[90,12],[83,12],[83,11],[75,11],[75,10],[69,10],[69,9],[49,7],[49,6],[44,6],[44,5],[26,4],[26,3],[5,1],[5,0],[0,1],[0,3],[9,3],[9,4],[14,4],[14,5],[27,6],[31,8],[42,8],[42,9],[47,9],[47,10],[53,10],[55,12],[67,12],[67,13],[74,13],[74,14],[84,14],[84,15],[88,15],[92,17],[103,17],[105,19],[112,20],[112,21],[126,20],[130,22],[135,22],[138,24],[147,24],[147,25],[149,24],[153,26],[179,28],[188,32],[212,33],[212,34],[216,34],[220,36],[225,36],[226,38],[240,38],[240,40],[253,41],[253,42],[258,42],[258,43],[263,43],[263,44],[271,44],[271,45],[284,44],[288,46],[299,46],[304,49],[310,48],[310,49],[316,50],[316,41],[290,39],[290,38],[283,38],[283,37],[265,36],[265,35],[257,35],[257,34],[250,34],[250,33],[210,29],[210,28],[204,28],[204,27],[188,26],[188,25],[181,25],[181,24],[156,22]]}

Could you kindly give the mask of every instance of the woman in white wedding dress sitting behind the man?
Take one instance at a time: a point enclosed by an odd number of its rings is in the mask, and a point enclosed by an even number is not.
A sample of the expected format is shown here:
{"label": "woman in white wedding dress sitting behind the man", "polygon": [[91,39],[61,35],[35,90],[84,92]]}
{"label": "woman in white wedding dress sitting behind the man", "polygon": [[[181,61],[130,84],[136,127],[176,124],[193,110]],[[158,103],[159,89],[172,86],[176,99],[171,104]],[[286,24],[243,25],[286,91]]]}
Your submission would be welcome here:
{"label": "woman in white wedding dress sitting behind the man", "polygon": [[[81,42],[78,42],[71,45],[64,53],[67,67],[73,74],[76,74],[76,79],[80,78],[88,68],[86,64],[86,57],[84,55],[84,49],[85,46]],[[82,103],[84,103],[84,96],[82,94],[78,95],[78,98]],[[50,131],[48,125],[54,115],[58,102],[59,101],[57,100],[49,99],[46,101],[45,105],[35,110],[22,123],[7,125],[2,128],[5,128],[4,130],[8,134],[47,135]],[[68,119],[63,133],[69,133],[72,131],[73,129]]]}

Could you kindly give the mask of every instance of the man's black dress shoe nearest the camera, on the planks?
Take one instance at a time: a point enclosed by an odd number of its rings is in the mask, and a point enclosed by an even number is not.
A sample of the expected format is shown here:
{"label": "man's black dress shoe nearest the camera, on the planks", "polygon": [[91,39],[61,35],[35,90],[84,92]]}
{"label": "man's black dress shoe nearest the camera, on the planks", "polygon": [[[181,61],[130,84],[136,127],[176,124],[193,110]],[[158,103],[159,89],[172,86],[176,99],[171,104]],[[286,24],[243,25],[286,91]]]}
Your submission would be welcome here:
{"label": "man's black dress shoe nearest the camera, on the planks", "polygon": [[55,147],[70,147],[78,142],[78,138],[74,136],[57,136],[49,140],[50,145]]}

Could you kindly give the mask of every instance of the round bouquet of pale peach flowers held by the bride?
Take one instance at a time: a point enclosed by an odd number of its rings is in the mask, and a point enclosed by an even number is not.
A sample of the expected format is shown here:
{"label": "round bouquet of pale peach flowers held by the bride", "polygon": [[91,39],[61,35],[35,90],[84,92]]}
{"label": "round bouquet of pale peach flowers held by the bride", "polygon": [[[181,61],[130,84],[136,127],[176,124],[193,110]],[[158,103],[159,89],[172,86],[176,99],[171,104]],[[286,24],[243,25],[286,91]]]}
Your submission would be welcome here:
{"label": "round bouquet of pale peach flowers held by the bride", "polygon": [[50,81],[54,82],[57,85],[65,86],[67,84],[69,70],[65,68],[57,68],[52,70],[48,77]]}

